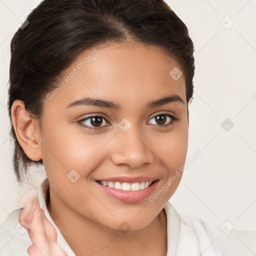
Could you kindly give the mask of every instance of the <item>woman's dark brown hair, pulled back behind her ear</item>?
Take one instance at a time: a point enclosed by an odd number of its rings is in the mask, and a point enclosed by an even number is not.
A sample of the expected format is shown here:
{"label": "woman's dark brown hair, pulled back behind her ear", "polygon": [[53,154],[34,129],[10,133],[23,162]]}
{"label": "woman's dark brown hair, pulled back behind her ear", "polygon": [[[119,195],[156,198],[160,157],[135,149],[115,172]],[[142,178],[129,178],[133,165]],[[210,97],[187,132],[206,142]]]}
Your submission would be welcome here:
{"label": "woman's dark brown hair, pulled back behind her ear", "polygon": [[29,23],[16,31],[10,44],[8,113],[18,182],[28,163],[42,160],[28,158],[18,143],[11,121],[12,103],[22,100],[28,113],[40,121],[42,99],[61,72],[88,48],[127,38],[156,45],[180,63],[186,102],[192,98],[193,43],[186,25],[163,0],[43,0],[26,19]]}

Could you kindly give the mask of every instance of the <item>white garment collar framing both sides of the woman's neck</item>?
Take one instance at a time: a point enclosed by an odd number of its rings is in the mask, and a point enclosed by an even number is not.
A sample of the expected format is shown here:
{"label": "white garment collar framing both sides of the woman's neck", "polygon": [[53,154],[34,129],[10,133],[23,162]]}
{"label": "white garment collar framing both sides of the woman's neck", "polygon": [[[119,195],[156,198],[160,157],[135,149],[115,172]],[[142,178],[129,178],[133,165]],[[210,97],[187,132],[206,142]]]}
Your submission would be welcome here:
{"label": "white garment collar framing both sides of the woman's neck", "polygon": [[[37,195],[39,199],[40,208],[44,210],[45,216],[52,223],[57,231],[57,243],[65,250],[68,256],[74,256],[74,252],[69,247],[63,235],[60,233],[58,227],[52,220],[49,211],[46,207],[46,193],[49,187],[48,179],[45,178],[38,188]],[[167,202],[164,206],[164,211],[167,219],[167,254],[166,256],[174,256],[176,254],[179,234],[180,234],[180,218],[174,207]]]}

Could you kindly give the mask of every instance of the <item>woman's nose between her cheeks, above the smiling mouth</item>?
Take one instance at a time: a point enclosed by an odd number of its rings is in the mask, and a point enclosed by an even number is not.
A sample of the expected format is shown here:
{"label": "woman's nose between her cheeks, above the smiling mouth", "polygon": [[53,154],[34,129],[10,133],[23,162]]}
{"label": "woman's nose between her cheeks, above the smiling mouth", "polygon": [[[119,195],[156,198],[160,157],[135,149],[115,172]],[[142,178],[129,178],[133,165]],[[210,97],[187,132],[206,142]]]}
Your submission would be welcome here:
{"label": "woman's nose between her cheeks, above the smiling mouth", "polygon": [[[132,127],[132,126],[131,126]],[[152,163],[154,153],[147,145],[145,136],[135,132],[133,128],[127,131],[118,130],[115,135],[115,150],[111,154],[111,160],[116,165],[138,168],[142,164]]]}

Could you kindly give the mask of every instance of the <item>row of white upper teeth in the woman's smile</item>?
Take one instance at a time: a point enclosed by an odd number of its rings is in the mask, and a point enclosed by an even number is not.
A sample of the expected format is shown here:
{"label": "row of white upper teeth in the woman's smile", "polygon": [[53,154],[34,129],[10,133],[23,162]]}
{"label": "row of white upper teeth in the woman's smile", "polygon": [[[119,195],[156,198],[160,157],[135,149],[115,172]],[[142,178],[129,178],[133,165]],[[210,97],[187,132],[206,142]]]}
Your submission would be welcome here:
{"label": "row of white upper teeth in the woman's smile", "polygon": [[113,187],[115,189],[121,189],[124,191],[138,191],[138,190],[143,190],[147,188],[148,186],[151,185],[152,181],[142,181],[142,182],[135,182],[135,183],[127,183],[123,182],[120,183],[119,181],[113,182],[113,181],[99,181],[100,184],[108,187]]}

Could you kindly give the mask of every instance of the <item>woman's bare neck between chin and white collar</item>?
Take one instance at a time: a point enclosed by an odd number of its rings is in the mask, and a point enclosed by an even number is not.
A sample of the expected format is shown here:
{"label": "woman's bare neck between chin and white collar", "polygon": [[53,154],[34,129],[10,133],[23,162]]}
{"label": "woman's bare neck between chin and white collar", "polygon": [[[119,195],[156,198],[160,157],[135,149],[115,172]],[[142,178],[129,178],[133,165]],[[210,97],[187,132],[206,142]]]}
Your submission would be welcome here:
{"label": "woman's bare neck between chin and white collar", "polygon": [[[51,189],[49,193],[55,194]],[[52,197],[47,208],[76,256],[97,254],[162,256],[167,253],[167,225],[164,210],[161,210],[147,226],[121,232],[79,214],[66,205],[57,194]]]}

